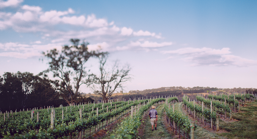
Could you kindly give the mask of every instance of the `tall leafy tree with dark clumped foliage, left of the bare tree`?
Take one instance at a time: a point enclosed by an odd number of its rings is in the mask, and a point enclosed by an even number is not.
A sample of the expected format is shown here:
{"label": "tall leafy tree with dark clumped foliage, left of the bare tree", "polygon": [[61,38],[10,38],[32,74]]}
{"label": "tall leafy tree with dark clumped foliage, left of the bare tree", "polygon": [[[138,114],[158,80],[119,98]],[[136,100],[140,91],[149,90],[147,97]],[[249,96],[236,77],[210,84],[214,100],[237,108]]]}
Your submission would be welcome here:
{"label": "tall leafy tree with dark clumped foliage, left of the bare tree", "polygon": [[[43,52],[49,62],[49,68],[44,72],[51,72],[55,81],[53,84],[59,96],[62,97],[69,105],[78,101],[81,97],[79,87],[85,82],[81,82],[87,77],[86,62],[91,57],[99,57],[104,52],[88,51],[88,42],[82,42],[79,45],[79,39],[70,40],[73,45],[65,45],[59,52],[56,49]],[[57,79],[56,79],[57,78]]]}

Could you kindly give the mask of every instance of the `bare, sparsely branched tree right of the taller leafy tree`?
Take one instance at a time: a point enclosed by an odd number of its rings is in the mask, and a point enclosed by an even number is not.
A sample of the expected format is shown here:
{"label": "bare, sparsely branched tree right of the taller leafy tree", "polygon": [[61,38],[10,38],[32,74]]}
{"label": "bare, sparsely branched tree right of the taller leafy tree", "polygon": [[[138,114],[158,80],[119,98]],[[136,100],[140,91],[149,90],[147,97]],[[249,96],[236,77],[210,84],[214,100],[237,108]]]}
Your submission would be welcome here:
{"label": "bare, sparsely branched tree right of the taller leafy tree", "polygon": [[108,100],[117,88],[123,90],[123,84],[131,80],[129,65],[120,66],[118,61],[111,68],[106,64],[108,54],[99,57],[99,73],[93,73],[86,84],[95,94],[102,96],[103,101]]}

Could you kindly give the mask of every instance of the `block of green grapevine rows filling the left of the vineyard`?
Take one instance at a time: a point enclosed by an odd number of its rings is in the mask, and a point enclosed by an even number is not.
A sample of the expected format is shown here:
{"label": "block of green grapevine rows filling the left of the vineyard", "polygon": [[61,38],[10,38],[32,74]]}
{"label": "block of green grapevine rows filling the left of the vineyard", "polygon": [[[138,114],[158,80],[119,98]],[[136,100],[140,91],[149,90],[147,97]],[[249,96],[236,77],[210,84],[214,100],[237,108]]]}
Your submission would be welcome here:
{"label": "block of green grapevine rows filling the left of the vineyard", "polygon": [[[70,133],[96,126],[100,122],[120,115],[131,106],[147,101],[148,100],[139,100],[129,104],[128,102],[123,101],[113,102],[112,106],[111,103],[84,105],[82,120],[79,118],[79,108],[82,109],[82,105],[76,107],[58,107],[55,108],[54,130],[50,129],[50,111],[48,109],[34,110],[34,113],[39,112],[39,122],[37,122],[36,116],[31,120],[31,111],[17,112],[17,115],[14,115],[14,117],[9,117],[9,119],[6,118],[6,121],[3,121],[2,114],[0,115],[0,138],[59,138],[69,136]],[[115,104],[117,105],[116,110]],[[93,107],[94,105],[95,107]],[[96,108],[102,107],[102,105],[104,105],[104,109],[99,109],[98,115],[96,115]],[[106,109],[107,106],[108,112]],[[92,111],[92,107],[94,108],[94,111]],[[64,110],[63,120],[62,110]],[[34,134],[34,130],[39,130],[39,132]]]}

